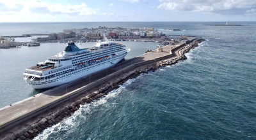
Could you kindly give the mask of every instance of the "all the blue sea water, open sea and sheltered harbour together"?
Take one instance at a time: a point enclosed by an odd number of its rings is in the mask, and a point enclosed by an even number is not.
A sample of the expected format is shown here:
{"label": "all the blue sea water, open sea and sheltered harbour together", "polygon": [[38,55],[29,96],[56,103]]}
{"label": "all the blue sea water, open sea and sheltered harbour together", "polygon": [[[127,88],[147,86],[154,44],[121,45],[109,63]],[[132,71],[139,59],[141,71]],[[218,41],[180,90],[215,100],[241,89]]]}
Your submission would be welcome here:
{"label": "all the blue sea water, open sea and sheltered harbour together", "polygon": [[[126,81],[35,139],[256,139],[256,22],[229,23],[243,26],[205,24],[225,22],[0,23],[0,35],[105,26],[154,27],[168,36],[205,39],[186,53],[187,60]],[[131,48],[125,59],[157,45],[121,43]],[[0,50],[0,107],[38,94],[40,91],[25,83],[22,73],[64,48],[64,43],[44,43]]]}

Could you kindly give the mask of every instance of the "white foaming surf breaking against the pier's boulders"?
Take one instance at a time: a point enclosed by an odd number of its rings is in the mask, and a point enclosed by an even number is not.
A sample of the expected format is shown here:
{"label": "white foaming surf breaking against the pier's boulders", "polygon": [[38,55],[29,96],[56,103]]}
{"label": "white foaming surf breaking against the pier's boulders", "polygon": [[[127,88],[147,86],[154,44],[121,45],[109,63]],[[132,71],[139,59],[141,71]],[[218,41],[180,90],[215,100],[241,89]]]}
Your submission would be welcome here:
{"label": "white foaming surf breaking against the pier's boulders", "polygon": [[[105,97],[101,97],[99,101],[92,101],[90,104],[84,104],[79,108],[74,115],[65,118],[60,123],[57,123],[56,125],[52,125],[51,127],[48,127],[45,129],[42,133],[38,134],[34,139],[35,140],[45,140],[51,138],[51,136],[59,135],[61,132],[65,131],[65,135],[68,136],[68,134],[71,134],[77,125],[79,125],[80,121],[77,120],[86,120],[86,116],[95,110],[95,108],[99,107],[102,104],[105,104],[108,99],[115,98],[116,95],[118,95],[122,90],[124,90],[128,85],[131,85],[132,82],[134,82],[136,78],[127,80],[125,83],[120,85],[119,88],[112,90],[109,92],[108,95]],[[74,128],[74,129],[73,129]]]}

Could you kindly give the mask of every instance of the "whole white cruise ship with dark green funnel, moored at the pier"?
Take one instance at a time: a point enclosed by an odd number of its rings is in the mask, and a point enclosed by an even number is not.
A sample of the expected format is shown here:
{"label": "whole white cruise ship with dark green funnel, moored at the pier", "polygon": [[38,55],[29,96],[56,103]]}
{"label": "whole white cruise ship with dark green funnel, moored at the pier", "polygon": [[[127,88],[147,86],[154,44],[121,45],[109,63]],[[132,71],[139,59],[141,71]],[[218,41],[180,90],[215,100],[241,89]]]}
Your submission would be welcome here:
{"label": "whole white cruise ship with dark green funnel, moored at the pier", "polygon": [[56,87],[114,66],[127,52],[125,45],[106,38],[92,48],[68,43],[63,52],[26,69],[23,78],[35,89]]}

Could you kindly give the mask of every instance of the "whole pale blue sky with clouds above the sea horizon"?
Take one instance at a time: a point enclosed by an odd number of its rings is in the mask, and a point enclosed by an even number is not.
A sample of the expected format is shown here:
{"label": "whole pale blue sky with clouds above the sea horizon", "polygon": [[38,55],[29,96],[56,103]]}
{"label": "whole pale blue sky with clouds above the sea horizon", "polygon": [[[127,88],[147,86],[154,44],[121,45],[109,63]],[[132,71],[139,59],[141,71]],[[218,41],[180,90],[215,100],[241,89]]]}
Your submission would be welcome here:
{"label": "whole pale blue sky with clouds above the sea horizon", "polygon": [[0,0],[0,22],[256,21],[256,0]]}

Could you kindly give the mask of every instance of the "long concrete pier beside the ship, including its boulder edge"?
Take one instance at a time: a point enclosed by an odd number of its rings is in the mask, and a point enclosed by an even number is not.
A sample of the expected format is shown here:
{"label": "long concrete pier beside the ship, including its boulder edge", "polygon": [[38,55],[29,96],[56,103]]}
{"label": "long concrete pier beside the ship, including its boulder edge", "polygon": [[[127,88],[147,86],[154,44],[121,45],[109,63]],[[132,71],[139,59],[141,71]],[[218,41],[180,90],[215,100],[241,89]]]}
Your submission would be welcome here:
{"label": "long concrete pier beside the ship, including its boulder edge", "polygon": [[125,81],[186,59],[184,53],[202,41],[193,38],[179,45],[148,50],[134,59],[1,108],[0,139],[33,139],[45,128],[72,115],[81,105],[104,97]]}

